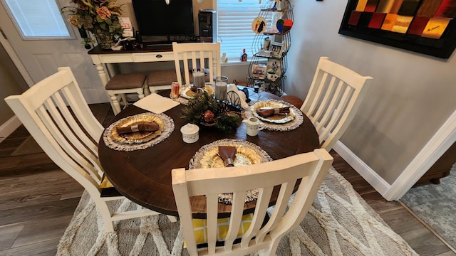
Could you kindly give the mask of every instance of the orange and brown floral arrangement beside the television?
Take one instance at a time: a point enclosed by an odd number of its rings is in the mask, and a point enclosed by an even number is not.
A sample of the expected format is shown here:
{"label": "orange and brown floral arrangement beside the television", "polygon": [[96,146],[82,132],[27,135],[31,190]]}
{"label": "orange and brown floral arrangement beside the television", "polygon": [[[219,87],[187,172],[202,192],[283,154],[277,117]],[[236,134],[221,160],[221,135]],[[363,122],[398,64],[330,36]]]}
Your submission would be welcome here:
{"label": "orange and brown floral arrangement beside the television", "polygon": [[[68,12],[71,25],[80,31],[93,33],[101,44],[101,48],[113,46],[113,36],[122,35],[123,28],[119,22],[122,14],[116,0],[71,0],[74,6],[62,8]],[[84,43],[90,43],[90,38],[84,38]]]}

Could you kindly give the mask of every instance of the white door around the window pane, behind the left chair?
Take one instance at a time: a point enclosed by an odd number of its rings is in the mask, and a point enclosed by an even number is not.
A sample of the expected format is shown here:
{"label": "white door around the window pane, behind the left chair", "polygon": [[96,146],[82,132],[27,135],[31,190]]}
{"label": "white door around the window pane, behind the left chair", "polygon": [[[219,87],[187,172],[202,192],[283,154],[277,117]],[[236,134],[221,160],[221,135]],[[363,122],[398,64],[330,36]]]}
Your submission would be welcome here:
{"label": "white door around the window pane, behind the left chair", "polygon": [[[0,2],[0,28],[33,83],[56,73],[58,67],[68,66],[78,80],[88,103],[109,102],[98,72],[87,53],[88,50],[81,44],[82,39],[76,28],[70,28],[70,33],[77,35],[70,39],[24,40],[6,11],[4,1]],[[68,0],[57,2],[60,6],[70,3]]]}

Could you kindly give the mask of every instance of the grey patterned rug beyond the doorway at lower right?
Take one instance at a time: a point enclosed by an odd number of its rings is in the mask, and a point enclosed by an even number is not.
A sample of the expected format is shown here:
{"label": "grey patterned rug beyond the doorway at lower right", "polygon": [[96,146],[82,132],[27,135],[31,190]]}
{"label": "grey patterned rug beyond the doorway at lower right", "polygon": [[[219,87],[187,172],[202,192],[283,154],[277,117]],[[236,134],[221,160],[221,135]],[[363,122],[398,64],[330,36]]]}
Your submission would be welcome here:
{"label": "grey patterned rug beyond the doorway at lower right", "polygon": [[400,201],[456,248],[456,164],[449,176],[440,178],[440,184],[410,188]]}

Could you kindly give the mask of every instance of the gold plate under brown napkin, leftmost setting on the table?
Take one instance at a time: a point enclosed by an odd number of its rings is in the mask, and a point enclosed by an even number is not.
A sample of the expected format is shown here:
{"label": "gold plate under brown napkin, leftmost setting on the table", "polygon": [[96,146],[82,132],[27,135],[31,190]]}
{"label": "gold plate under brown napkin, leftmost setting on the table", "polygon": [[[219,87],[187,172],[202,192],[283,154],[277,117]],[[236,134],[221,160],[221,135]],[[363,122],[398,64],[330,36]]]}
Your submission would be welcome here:
{"label": "gold plate under brown napkin, leftmost setting on the table", "polygon": [[[155,132],[132,132],[128,134],[118,134],[117,132],[117,127],[128,127],[133,124],[143,124],[147,122],[156,122],[159,126],[158,130]],[[165,125],[162,119],[160,119],[160,117],[148,113],[135,114],[134,116],[120,119],[118,123],[115,124],[115,126],[113,127],[111,131],[111,136],[116,142],[126,144],[140,144],[148,142],[151,139],[160,136],[160,134],[162,134],[164,127]]]}

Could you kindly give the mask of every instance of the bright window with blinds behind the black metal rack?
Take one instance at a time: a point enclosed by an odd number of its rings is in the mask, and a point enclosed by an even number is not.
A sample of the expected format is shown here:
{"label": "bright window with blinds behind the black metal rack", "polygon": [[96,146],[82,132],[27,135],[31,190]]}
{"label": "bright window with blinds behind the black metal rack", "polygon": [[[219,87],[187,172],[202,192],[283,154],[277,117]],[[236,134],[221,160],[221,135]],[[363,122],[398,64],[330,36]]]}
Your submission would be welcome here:
{"label": "bright window with blinds behind the black metal rack", "polygon": [[217,33],[221,52],[227,53],[229,62],[239,60],[242,49],[252,56],[255,33],[252,22],[260,12],[258,0],[217,0]]}

